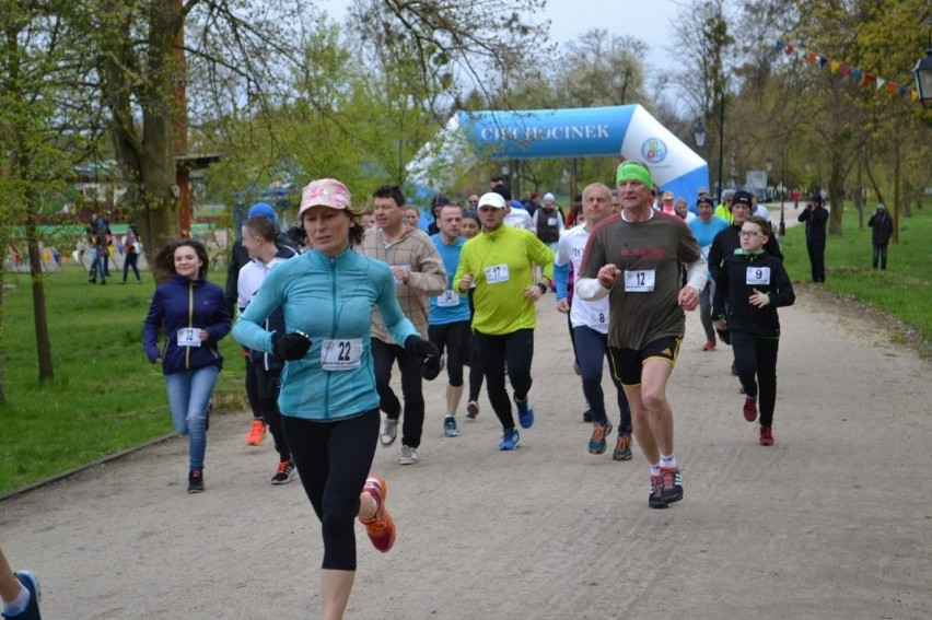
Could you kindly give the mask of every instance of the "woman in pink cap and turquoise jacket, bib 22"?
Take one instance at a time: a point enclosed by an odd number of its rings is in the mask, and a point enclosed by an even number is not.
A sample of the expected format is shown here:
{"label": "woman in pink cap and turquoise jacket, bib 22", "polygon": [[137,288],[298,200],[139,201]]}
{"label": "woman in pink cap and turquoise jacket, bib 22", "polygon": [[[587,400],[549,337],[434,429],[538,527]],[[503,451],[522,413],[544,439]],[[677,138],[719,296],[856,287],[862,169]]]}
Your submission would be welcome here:
{"label": "woman in pink cap and turquoise jacket, bib 22", "polygon": [[[369,469],[378,436],[378,394],[370,352],[372,308],[397,342],[426,364],[436,347],[401,313],[388,266],[352,249],[363,227],[349,189],[333,178],[304,188],[299,210],[312,249],[272,270],[233,328],[251,349],[286,360],[279,409],[301,482],[322,523],[323,618],[342,618],[356,576],[353,520],[388,551],[395,522],[385,508],[387,486]],[[265,319],[281,306],[287,334]]]}

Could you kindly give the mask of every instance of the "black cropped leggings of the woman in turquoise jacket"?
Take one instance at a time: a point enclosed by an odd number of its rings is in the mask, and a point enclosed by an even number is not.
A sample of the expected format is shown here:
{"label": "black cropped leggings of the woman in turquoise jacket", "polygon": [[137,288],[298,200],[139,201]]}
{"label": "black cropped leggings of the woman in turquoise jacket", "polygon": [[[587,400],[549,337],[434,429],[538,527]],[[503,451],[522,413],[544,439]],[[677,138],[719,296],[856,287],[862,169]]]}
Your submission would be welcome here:
{"label": "black cropped leggings of the woman in turquoise jacket", "polygon": [[282,429],[304,492],[321,519],[323,568],[356,570],[356,517],[378,436],[378,409],[318,422],[282,416]]}

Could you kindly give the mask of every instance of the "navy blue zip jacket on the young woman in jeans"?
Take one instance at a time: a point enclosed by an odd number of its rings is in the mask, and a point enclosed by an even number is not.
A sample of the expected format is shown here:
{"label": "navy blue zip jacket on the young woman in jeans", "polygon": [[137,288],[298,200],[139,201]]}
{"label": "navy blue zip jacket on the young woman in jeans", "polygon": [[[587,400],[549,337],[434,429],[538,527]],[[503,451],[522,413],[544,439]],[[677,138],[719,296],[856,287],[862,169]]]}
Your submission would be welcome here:
{"label": "navy blue zip jacket on the young woman in jeans", "polygon": [[[159,332],[164,327],[165,343],[159,349]],[[178,347],[178,329],[207,330],[209,338],[200,347]],[[211,364],[222,367],[223,356],[217,343],[230,332],[230,313],[223,289],[203,279],[183,276],[159,284],[142,324],[142,347],[153,364],[162,358],[162,374],[196,371]]]}

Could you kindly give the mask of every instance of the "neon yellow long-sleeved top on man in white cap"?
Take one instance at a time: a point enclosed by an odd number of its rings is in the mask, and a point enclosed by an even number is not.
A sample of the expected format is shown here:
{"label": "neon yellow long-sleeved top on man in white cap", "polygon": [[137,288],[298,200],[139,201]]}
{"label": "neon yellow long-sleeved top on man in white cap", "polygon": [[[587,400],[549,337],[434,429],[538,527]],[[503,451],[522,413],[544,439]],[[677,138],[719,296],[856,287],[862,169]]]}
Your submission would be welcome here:
{"label": "neon yellow long-sleeved top on man in white cap", "polygon": [[[534,302],[524,296],[524,288],[536,284],[535,264],[544,268],[546,278],[554,279],[554,253],[531,231],[501,225],[466,242],[459,254],[453,290],[459,290],[463,276],[473,274],[476,286],[474,330],[500,336],[537,326]],[[489,283],[490,277],[492,283]],[[496,278],[500,281],[496,282]]]}

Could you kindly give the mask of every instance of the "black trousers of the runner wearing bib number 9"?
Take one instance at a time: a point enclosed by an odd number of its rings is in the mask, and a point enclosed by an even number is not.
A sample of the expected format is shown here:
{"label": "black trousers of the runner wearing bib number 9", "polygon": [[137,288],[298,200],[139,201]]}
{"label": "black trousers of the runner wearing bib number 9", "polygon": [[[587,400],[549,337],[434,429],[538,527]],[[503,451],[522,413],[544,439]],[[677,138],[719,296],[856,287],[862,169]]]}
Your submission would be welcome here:
{"label": "black trousers of the runner wearing bib number 9", "polygon": [[[773,408],[777,406],[777,338],[757,338],[745,331],[732,331],[732,351],[738,379],[745,395],[757,397],[760,425],[773,425]],[[755,382],[756,375],[756,382]]]}

